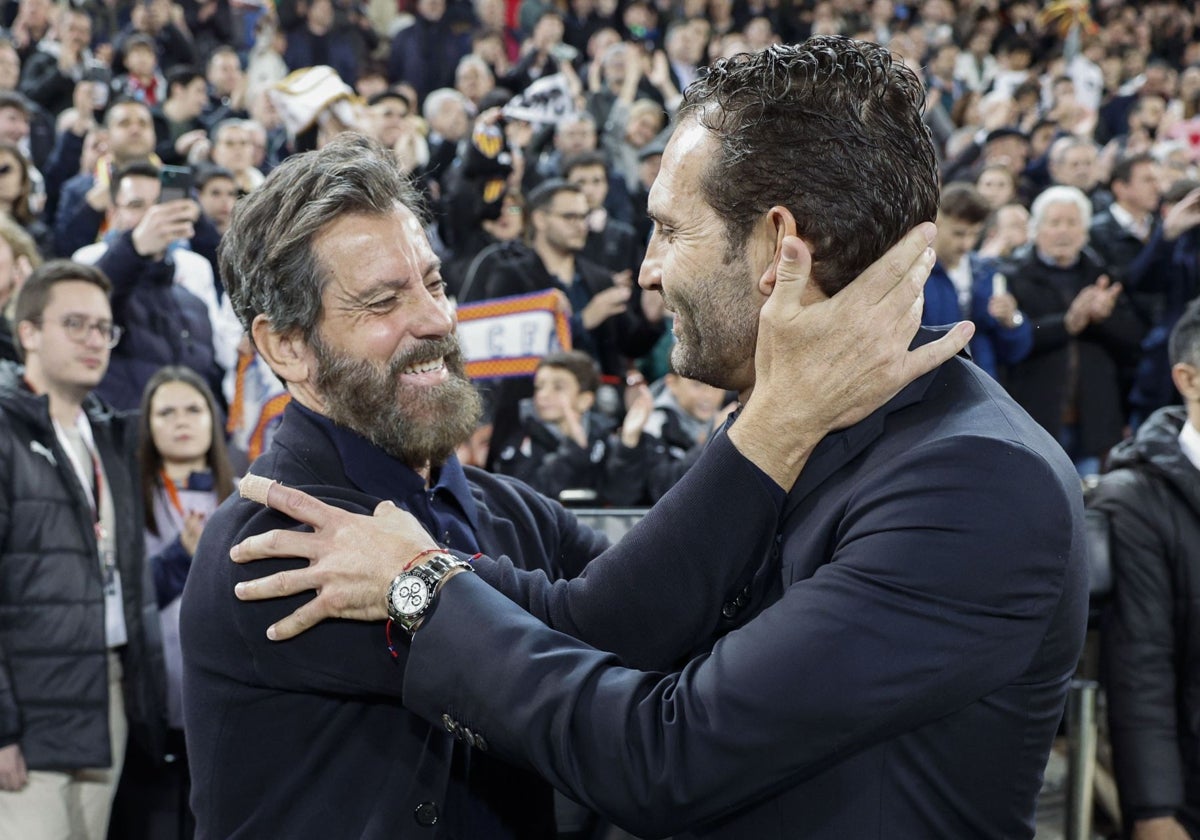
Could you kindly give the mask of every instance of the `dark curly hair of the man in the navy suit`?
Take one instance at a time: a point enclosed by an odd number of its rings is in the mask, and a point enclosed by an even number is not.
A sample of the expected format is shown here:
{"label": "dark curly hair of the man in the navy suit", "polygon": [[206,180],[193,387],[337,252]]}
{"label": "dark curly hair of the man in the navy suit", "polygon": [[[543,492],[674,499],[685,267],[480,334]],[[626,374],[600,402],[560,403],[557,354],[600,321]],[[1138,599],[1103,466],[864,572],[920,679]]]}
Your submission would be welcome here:
{"label": "dark curly hair of the man in the navy suit", "polygon": [[814,37],[716,61],[684,96],[679,121],[716,136],[701,175],[725,220],[728,258],[772,206],[796,216],[814,281],[844,288],[911,228],[937,216],[937,158],[924,90],[877,44]]}

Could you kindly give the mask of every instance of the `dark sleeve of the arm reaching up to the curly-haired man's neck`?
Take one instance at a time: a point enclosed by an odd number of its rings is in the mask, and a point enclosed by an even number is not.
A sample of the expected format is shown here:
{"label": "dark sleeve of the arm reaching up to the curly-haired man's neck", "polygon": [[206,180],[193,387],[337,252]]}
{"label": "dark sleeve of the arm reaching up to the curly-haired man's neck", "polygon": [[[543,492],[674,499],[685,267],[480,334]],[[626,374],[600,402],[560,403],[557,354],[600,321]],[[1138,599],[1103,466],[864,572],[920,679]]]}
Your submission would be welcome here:
{"label": "dark sleeve of the arm reaching up to the curly-haired man's neck", "polygon": [[[728,437],[719,434],[671,493],[571,580],[551,582],[541,572],[516,569],[505,557],[481,557],[475,568],[554,630],[614,653],[632,667],[668,668],[731,626],[722,608],[778,550],[780,502],[766,481]],[[574,528],[559,527],[570,535],[568,544],[581,539],[581,532],[590,534],[574,517],[571,522]],[[653,575],[646,575],[648,569]],[[654,586],[655,576],[670,581],[670,599]],[[614,620],[612,605],[618,602],[622,618]]]}

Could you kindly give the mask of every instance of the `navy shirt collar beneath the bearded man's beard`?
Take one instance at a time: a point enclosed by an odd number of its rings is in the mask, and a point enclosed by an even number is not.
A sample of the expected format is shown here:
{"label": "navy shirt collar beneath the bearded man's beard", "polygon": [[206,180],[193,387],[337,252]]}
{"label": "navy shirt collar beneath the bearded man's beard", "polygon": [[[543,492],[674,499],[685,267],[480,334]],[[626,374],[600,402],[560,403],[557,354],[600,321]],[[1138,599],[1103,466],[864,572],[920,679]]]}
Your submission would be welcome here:
{"label": "navy shirt collar beneath the bearded man's beard", "polygon": [[[403,461],[383,451],[358,432],[338,426],[324,414],[301,406],[295,400],[292,403],[325,430],[342,458],[346,478],[364,493],[379,499],[390,499],[397,506],[404,508],[404,499],[414,493],[425,492],[425,479]],[[430,490],[449,494],[458,503],[472,529],[478,529],[475,498],[470,493],[470,485],[467,484],[467,474],[458,463],[458,457],[451,454],[442,468],[436,470],[436,476],[437,482]]]}

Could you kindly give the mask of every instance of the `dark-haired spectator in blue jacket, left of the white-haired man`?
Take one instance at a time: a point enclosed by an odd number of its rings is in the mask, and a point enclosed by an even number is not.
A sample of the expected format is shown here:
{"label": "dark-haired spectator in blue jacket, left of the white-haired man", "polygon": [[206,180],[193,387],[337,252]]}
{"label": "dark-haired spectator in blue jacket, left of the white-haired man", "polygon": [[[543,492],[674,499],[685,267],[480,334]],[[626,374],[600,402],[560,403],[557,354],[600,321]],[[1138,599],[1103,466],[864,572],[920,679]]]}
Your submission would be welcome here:
{"label": "dark-haired spectator in blue jacket, left of the white-haired man", "polygon": [[937,208],[937,257],[925,282],[926,326],[973,320],[971,359],[994,379],[1001,366],[1015,365],[1030,354],[1033,325],[1018,308],[1003,275],[992,259],[974,252],[974,244],[991,208],[970,184],[948,184]]}

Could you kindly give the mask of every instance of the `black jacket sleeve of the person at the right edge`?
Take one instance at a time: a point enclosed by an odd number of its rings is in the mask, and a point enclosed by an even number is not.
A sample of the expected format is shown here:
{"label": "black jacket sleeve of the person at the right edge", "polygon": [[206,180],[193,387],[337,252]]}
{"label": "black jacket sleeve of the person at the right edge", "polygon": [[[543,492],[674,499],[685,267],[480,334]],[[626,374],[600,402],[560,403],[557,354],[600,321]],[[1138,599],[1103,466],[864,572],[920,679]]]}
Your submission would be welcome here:
{"label": "black jacket sleeve of the person at the right edge", "polygon": [[1109,517],[1112,606],[1104,628],[1109,732],[1121,808],[1133,821],[1183,809],[1178,685],[1169,558],[1158,494],[1144,479],[1106,475],[1092,505]]}

